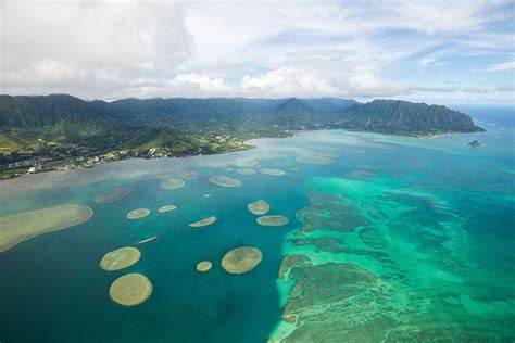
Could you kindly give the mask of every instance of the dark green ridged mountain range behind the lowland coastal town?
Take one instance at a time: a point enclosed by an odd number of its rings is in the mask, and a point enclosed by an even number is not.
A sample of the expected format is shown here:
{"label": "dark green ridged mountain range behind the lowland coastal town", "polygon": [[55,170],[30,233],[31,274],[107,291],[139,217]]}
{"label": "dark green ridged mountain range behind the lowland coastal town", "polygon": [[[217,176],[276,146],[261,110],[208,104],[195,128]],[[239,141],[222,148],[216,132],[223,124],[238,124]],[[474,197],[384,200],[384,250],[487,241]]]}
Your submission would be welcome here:
{"label": "dark green ridged mountain range behind the lowland coastal town", "polygon": [[[335,110],[337,109],[337,110]],[[469,116],[445,106],[375,100],[360,104],[336,99],[126,99],[112,103],[71,96],[0,96],[0,131],[55,126],[118,130],[164,128],[196,135],[246,128],[347,128],[397,135],[473,132],[482,128]]]}

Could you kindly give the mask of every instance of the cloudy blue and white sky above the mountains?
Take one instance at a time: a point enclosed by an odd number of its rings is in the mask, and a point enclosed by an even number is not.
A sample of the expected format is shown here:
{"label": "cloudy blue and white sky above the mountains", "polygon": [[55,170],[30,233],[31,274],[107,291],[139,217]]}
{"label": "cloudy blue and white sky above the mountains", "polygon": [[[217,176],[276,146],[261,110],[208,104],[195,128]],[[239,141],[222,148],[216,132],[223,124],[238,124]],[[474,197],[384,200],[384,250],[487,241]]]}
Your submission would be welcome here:
{"label": "cloudy blue and white sky above the mountains", "polygon": [[0,0],[0,93],[515,103],[515,1]]}

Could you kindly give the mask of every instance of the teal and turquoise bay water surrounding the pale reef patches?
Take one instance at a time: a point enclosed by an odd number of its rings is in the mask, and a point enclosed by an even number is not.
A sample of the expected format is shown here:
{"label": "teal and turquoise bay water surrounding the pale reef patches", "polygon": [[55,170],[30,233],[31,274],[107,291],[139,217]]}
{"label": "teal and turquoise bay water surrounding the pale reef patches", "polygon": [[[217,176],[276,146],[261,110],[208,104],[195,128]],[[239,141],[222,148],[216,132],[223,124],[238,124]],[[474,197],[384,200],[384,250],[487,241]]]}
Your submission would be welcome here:
{"label": "teal and turquoise bay water surrounding the pale reef patches", "polygon": [[[303,132],[252,141],[259,148],[246,152],[130,160],[0,182],[0,215],[64,203],[95,211],[77,227],[0,254],[0,341],[512,342],[514,113],[460,110],[488,131],[435,139]],[[468,147],[474,139],[485,147]],[[235,172],[254,161],[254,168],[287,174]],[[199,178],[161,189],[175,170]],[[217,175],[243,186],[211,183]],[[116,187],[133,192],[111,204],[93,201]],[[259,226],[247,211],[258,199],[290,224]],[[178,209],[159,214],[165,204]],[[137,207],[152,213],[127,220]],[[212,226],[188,226],[211,215],[218,217]],[[106,252],[125,245],[140,249],[136,265],[99,267]],[[240,245],[259,247],[263,262],[249,274],[229,275],[219,262]],[[312,266],[292,267],[277,280],[282,256],[293,253],[309,256]],[[214,267],[199,274],[194,266],[203,259]],[[153,293],[139,306],[122,307],[110,300],[109,287],[131,271],[148,276]],[[298,293],[291,292],[296,283]],[[285,310],[297,321],[282,320]]]}

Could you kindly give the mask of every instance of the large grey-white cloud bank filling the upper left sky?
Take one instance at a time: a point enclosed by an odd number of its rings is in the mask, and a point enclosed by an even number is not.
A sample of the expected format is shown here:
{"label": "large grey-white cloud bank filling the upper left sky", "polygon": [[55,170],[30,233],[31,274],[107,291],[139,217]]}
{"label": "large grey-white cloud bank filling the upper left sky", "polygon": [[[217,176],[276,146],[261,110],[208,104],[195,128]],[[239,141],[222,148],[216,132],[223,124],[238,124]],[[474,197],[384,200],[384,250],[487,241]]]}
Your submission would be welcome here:
{"label": "large grey-white cloud bank filling the upper left sky", "polygon": [[191,56],[181,5],[2,1],[0,87],[102,97],[113,79],[162,77]]}

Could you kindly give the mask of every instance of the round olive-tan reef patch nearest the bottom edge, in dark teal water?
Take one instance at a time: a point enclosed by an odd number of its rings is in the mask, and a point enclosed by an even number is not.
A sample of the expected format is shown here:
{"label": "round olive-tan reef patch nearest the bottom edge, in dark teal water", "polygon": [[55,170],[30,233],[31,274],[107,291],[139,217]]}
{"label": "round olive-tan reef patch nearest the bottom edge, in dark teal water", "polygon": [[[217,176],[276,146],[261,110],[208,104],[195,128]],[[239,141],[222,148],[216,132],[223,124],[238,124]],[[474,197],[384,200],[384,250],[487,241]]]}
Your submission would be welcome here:
{"label": "round olive-tan reef patch nearest the bottom edge, in dark teal water", "polygon": [[152,294],[152,282],[142,274],[131,272],[111,283],[109,295],[124,306],[139,305]]}

